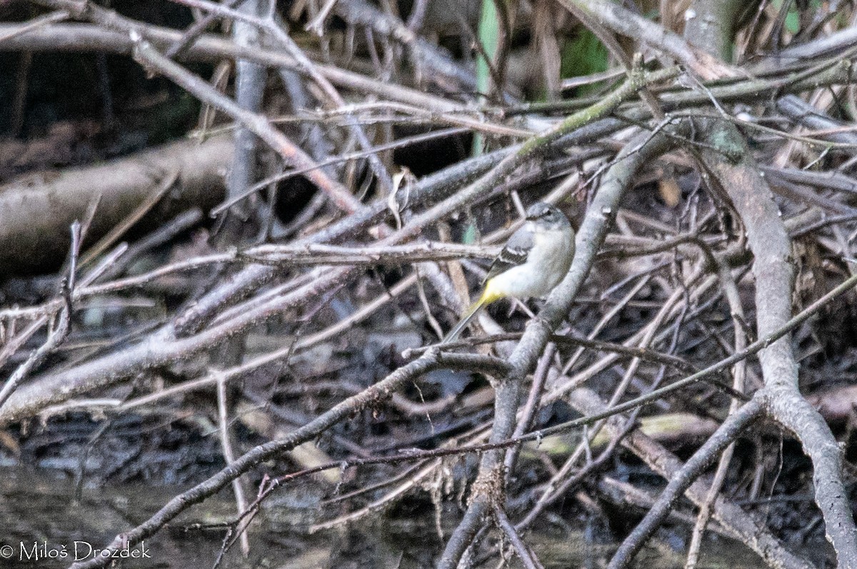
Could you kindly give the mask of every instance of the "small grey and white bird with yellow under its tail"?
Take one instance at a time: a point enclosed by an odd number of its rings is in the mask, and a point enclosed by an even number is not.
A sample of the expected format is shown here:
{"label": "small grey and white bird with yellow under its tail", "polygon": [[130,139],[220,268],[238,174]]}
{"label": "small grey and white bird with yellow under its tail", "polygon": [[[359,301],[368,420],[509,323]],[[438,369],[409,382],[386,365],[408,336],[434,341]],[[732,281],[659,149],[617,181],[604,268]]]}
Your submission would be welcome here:
{"label": "small grey and white bird with yellow under its tail", "polygon": [[455,341],[479,309],[500,298],[546,296],[568,273],[574,258],[574,230],[557,207],[536,201],[526,220],[494,257],[482,281],[482,294],[440,344]]}

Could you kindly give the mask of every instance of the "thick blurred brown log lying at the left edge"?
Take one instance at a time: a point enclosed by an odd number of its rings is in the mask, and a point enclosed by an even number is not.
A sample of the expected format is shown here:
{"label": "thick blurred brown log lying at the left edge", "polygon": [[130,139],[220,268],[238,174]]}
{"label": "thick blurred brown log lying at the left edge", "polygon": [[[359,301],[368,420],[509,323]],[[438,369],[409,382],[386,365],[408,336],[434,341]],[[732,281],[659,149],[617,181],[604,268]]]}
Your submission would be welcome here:
{"label": "thick blurred brown log lying at the left edge", "polygon": [[223,198],[223,165],[232,141],[174,142],[103,165],[30,174],[0,186],[0,274],[56,269],[65,255],[68,228],[99,199],[88,237],[99,238],[135,211],[165,178],[177,174],[154,207],[152,223],[189,207],[208,209]]}

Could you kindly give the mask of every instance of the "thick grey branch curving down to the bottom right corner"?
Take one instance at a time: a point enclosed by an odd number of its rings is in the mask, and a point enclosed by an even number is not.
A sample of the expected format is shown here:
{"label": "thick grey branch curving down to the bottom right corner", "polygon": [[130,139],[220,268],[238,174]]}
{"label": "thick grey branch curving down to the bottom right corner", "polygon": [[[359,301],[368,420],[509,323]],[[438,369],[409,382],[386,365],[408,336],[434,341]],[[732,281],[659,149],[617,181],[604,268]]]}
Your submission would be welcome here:
{"label": "thick grey branch curving down to the bottom right corner", "polygon": [[[730,123],[707,128],[713,147],[702,152],[705,164],[732,198],[740,213],[755,261],[756,325],[759,337],[791,317],[794,262],[791,243],[764,177],[740,134]],[[794,432],[812,458],[816,502],[824,516],[827,538],[839,567],[857,567],[857,527],[842,482],[841,451],[824,419],[798,391],[798,367],[790,338],[780,338],[759,353],[767,410]]]}

